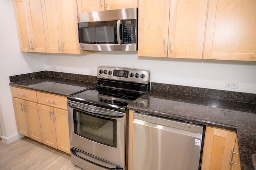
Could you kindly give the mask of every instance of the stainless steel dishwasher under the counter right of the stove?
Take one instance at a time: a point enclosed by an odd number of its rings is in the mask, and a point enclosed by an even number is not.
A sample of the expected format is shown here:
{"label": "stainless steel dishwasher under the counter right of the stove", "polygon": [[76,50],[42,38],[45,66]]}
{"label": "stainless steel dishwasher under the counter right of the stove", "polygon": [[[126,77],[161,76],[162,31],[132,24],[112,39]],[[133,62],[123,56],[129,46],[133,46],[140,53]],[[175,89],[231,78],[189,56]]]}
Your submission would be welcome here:
{"label": "stainless steel dishwasher under the counter right of the stove", "polygon": [[198,170],[203,125],[144,113],[133,115],[132,170]]}

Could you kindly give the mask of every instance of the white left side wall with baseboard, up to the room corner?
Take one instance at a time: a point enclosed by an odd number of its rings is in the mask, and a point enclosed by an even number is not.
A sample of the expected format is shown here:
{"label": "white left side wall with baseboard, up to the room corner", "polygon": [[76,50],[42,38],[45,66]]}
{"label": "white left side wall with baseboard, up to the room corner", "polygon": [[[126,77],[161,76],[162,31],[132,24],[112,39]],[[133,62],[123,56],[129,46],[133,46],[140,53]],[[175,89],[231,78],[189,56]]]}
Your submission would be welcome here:
{"label": "white left side wall with baseboard, up to the room corner", "polygon": [[0,125],[2,141],[10,143],[17,133],[9,76],[46,69],[44,54],[21,53],[12,0],[0,1]]}

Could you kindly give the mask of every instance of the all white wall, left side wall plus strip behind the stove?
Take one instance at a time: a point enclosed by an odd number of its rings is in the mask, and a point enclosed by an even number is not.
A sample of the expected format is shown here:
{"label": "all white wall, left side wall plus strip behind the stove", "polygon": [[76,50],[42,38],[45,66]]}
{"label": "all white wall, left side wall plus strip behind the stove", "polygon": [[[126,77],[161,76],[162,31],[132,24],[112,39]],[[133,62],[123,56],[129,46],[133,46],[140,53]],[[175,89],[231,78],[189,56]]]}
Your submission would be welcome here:
{"label": "all white wall, left side wall plus strip behind the stove", "polygon": [[102,52],[82,55],[21,53],[12,0],[0,1],[0,125],[2,141],[10,143],[17,134],[9,76],[42,70],[89,75],[98,66],[143,68],[151,71],[151,82],[225,89],[225,81],[239,82],[233,91],[256,94],[256,62],[163,59],[138,57],[137,52]]}

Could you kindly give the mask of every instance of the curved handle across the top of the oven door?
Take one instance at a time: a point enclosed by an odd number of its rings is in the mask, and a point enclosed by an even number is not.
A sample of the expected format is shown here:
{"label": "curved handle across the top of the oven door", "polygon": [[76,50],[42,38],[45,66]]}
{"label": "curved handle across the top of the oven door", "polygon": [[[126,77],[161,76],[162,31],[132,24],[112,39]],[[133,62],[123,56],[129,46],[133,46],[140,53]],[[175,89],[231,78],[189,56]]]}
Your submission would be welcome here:
{"label": "curved handle across the top of the oven door", "polygon": [[96,110],[96,109],[91,109],[91,108],[88,108],[88,107],[83,107],[83,106],[78,106],[77,104],[74,104],[74,103],[70,103],[70,102],[67,102],[67,104],[71,107],[74,107],[76,109],[80,109],[82,111],[86,111],[92,115],[103,115],[103,116],[106,116],[106,117],[114,117],[114,118],[122,118],[124,117],[123,114],[121,113],[113,113],[111,111],[108,111],[108,110],[104,110],[104,111],[101,111],[101,110]]}

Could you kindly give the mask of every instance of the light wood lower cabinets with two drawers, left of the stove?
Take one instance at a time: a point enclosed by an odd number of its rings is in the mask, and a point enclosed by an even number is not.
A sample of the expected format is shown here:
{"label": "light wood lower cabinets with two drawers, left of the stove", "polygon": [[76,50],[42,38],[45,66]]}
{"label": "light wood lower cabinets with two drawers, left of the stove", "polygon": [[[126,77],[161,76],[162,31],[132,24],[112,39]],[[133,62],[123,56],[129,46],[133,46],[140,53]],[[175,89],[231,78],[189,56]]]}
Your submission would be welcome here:
{"label": "light wood lower cabinets with two drawers, left of the stove", "polygon": [[11,92],[18,133],[70,154],[66,97],[16,87]]}

